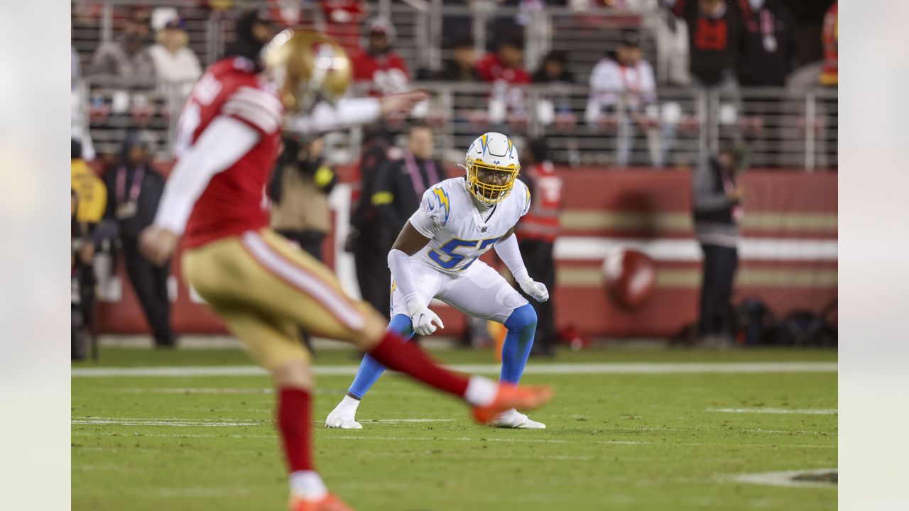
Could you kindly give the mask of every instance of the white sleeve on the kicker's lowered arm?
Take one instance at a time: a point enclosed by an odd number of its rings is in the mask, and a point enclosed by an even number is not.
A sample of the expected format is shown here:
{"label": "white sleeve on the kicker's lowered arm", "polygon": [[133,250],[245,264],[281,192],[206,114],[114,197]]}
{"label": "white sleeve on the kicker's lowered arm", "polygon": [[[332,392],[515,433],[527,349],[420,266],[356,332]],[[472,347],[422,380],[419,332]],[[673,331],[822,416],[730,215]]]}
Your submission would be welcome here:
{"label": "white sleeve on the kicker's lowered arm", "polygon": [[240,159],[259,141],[258,132],[232,117],[218,117],[177,161],[165,185],[155,225],[182,235],[195,201],[213,175]]}

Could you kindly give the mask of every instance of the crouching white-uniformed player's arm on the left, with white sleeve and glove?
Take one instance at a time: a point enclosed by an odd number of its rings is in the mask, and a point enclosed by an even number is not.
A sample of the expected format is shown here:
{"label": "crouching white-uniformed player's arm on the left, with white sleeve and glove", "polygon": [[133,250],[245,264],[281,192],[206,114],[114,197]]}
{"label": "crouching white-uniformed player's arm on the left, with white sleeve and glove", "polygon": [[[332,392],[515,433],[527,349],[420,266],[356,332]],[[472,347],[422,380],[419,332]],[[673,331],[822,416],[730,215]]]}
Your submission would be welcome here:
{"label": "crouching white-uniformed player's arm on the left, with white sleeve and glove", "polygon": [[[419,210],[417,210],[419,212]],[[445,328],[439,316],[425,306],[422,298],[416,292],[414,274],[410,269],[410,256],[416,254],[429,243],[430,238],[421,234],[410,222],[404,225],[401,233],[395,240],[391,252],[388,253],[388,267],[395,278],[395,286],[401,290],[407,303],[407,311],[414,324],[414,331],[421,336],[428,336],[435,332],[436,325]]]}

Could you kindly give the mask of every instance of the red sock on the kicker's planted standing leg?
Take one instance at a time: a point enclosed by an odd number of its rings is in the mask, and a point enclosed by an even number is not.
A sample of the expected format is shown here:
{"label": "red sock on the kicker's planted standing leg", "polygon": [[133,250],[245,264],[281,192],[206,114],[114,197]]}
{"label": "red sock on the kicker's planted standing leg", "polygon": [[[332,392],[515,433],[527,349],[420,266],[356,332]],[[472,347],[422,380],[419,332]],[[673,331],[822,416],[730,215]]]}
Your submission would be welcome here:
{"label": "red sock on the kicker's planted standing leg", "polygon": [[288,472],[315,470],[310,452],[310,395],[302,388],[281,388],[278,392],[278,431],[285,446]]}

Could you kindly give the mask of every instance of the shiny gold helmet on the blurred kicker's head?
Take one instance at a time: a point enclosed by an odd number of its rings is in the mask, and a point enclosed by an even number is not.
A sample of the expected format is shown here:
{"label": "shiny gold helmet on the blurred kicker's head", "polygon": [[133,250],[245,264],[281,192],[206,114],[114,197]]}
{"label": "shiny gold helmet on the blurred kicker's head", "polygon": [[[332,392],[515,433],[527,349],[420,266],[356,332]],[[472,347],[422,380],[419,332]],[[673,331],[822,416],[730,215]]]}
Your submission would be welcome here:
{"label": "shiny gold helmet on the blurred kicker's head", "polygon": [[353,75],[347,52],[331,37],[312,30],[287,29],[262,50],[265,68],[285,108],[308,112],[321,99],[335,103]]}

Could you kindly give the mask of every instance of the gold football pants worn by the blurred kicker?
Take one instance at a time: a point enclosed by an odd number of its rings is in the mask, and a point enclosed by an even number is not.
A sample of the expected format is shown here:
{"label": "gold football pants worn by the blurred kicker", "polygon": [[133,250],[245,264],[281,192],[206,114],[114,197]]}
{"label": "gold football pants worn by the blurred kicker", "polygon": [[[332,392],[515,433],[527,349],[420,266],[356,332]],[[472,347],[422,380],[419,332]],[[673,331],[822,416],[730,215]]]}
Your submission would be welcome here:
{"label": "gold football pants worn by the blurred kicker", "polygon": [[345,296],[327,266],[271,229],[186,250],[183,272],[266,369],[309,362],[299,328],[353,341],[376,321],[369,305]]}

